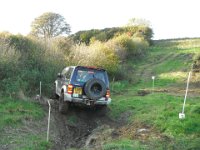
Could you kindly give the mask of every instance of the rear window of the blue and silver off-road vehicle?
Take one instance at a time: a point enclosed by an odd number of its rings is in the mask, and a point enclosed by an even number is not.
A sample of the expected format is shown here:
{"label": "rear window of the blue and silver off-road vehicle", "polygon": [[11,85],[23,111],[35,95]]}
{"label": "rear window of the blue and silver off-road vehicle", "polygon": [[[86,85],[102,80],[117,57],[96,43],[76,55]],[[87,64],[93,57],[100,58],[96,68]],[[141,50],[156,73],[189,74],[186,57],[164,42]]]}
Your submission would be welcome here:
{"label": "rear window of the blue and silver off-road vehicle", "polygon": [[77,70],[76,81],[87,82],[90,79],[97,78],[106,82],[105,73],[99,70]]}

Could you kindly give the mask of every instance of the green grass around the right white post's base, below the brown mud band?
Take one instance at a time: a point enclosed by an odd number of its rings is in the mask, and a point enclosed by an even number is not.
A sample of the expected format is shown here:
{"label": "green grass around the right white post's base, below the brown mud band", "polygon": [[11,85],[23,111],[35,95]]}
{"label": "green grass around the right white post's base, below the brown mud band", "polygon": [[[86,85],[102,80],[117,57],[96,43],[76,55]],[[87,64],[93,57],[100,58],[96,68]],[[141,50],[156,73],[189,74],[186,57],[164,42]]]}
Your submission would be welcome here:
{"label": "green grass around the right white post's base, below the brown mud band", "polygon": [[183,97],[167,94],[150,94],[144,97],[127,95],[113,98],[111,116],[117,118],[125,111],[131,111],[130,121],[141,122],[155,126],[167,135],[197,135],[200,136],[200,103],[198,98],[189,98],[185,107],[186,119],[179,120]]}

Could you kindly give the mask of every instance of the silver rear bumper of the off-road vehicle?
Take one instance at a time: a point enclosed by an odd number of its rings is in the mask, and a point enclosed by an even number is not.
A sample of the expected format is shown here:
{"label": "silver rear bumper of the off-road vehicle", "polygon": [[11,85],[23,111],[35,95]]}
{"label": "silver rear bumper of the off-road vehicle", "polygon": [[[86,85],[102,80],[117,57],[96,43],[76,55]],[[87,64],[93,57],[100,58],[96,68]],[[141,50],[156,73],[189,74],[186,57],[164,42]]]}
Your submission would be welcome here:
{"label": "silver rear bumper of the off-road vehicle", "polygon": [[64,94],[64,101],[69,101],[72,103],[80,103],[85,105],[109,105],[111,103],[111,98],[100,98],[98,100],[91,100],[87,96],[83,96],[83,98],[72,97],[71,94]]}

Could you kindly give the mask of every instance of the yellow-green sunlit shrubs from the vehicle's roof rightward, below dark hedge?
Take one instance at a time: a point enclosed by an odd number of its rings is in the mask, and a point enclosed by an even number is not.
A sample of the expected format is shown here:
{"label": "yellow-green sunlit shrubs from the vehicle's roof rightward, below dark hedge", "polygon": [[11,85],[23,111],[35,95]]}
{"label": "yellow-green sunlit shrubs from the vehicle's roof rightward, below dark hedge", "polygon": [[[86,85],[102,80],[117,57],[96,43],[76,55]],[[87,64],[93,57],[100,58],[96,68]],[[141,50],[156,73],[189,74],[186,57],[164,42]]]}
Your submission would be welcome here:
{"label": "yellow-green sunlit shrubs from the vehicle's roof rightward, below dark hedge", "polygon": [[125,65],[127,59],[138,59],[146,54],[149,44],[140,37],[122,34],[107,42],[93,39],[90,45],[75,45],[71,49],[73,65],[98,66],[105,68],[117,80],[131,80],[132,67]]}

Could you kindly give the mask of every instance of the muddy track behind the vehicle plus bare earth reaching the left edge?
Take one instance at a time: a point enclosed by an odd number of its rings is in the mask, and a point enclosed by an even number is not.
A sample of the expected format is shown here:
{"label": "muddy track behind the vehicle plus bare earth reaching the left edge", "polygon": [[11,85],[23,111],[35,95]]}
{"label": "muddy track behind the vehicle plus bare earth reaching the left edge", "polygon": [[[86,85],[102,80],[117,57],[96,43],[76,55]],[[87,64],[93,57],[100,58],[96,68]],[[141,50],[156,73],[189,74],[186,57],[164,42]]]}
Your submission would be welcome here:
{"label": "muddy track behind the vehicle plus bare earth reaching the left edge", "polygon": [[46,140],[48,122],[48,103],[51,103],[49,141],[51,150],[68,149],[102,149],[106,140],[112,138],[113,131],[118,123],[107,115],[102,115],[98,110],[80,106],[71,106],[67,114],[58,112],[58,101],[42,99],[39,104],[45,111],[41,120],[24,120],[19,128],[6,127],[0,138],[7,137],[9,142],[0,144],[1,150],[21,149],[26,143],[15,142],[15,138],[23,139],[27,135],[42,137]]}

